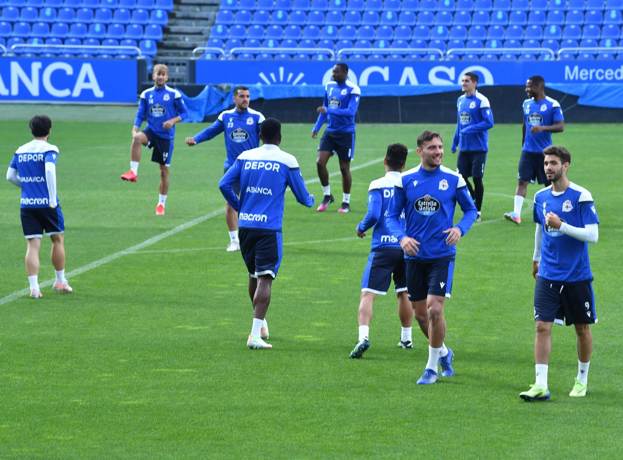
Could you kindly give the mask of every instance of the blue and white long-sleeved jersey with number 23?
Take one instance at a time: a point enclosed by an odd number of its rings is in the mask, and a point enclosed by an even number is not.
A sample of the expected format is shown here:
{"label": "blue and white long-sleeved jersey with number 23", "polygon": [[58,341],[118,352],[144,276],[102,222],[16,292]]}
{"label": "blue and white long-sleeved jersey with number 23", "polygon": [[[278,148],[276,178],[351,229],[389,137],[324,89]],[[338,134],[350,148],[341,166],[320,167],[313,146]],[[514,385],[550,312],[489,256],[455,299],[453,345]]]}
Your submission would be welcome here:
{"label": "blue and white long-sleeved jersey with number 23", "polygon": [[239,112],[235,108],[221,112],[211,126],[194,136],[195,142],[203,142],[225,132],[225,168],[231,167],[242,152],[257,149],[260,145],[260,124],[264,115],[254,109],[247,108]]}

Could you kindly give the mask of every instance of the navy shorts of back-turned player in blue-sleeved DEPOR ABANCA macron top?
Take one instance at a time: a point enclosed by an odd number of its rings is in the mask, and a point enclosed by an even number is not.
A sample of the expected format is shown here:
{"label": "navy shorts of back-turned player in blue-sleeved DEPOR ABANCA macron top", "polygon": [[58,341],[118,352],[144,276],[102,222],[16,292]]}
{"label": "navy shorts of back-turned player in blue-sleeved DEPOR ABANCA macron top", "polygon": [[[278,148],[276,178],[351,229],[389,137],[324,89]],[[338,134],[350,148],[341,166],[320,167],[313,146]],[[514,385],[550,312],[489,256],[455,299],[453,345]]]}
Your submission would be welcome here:
{"label": "navy shorts of back-turned player in blue-sleeved DEPOR ABANCA macron top", "polygon": [[241,227],[238,236],[240,252],[249,276],[257,278],[270,275],[275,278],[283,255],[281,232]]}

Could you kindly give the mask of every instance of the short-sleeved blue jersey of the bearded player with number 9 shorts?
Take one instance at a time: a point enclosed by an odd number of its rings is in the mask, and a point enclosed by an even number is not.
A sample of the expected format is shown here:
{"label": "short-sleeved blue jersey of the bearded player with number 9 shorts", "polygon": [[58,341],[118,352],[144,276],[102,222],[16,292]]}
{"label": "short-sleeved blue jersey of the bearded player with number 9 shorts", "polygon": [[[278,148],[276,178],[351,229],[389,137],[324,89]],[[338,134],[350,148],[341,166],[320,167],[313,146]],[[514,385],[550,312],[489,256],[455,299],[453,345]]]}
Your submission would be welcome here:
{"label": "short-sleeved blue jersey of the bearded player with number 9 shorts", "polygon": [[550,185],[536,192],[534,208],[534,220],[543,231],[537,276],[563,283],[591,281],[588,243],[549,227],[545,214],[550,211],[573,227],[599,224],[591,193],[573,182],[562,193],[552,191]]}

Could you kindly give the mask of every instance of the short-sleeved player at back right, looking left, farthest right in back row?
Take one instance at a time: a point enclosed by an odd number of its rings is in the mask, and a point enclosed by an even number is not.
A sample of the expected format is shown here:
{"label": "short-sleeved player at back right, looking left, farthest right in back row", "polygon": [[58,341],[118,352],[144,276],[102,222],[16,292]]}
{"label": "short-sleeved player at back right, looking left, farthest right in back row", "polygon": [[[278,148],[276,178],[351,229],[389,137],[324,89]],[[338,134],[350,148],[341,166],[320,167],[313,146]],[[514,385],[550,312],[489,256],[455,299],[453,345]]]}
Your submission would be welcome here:
{"label": "short-sleeved player at back right, looking left, farthest right in back row", "polygon": [[[515,208],[504,213],[506,220],[521,223],[521,207],[528,183],[548,185],[543,170],[543,150],[551,145],[551,133],[564,131],[563,109],[558,101],[545,95],[545,80],[535,75],[526,81],[528,99],[523,101],[523,136],[519,159],[519,183],[515,191]],[[526,127],[530,129],[526,130]]]}

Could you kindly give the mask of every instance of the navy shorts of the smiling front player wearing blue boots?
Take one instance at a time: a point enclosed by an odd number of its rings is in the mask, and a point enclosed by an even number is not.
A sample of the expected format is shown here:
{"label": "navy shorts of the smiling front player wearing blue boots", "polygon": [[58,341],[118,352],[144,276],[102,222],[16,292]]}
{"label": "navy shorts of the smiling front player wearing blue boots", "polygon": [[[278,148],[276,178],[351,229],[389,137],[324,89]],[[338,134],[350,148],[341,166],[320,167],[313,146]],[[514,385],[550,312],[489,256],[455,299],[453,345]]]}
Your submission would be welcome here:
{"label": "navy shorts of the smiling front player wearing blue boots", "polygon": [[454,260],[405,260],[409,300],[424,300],[429,295],[450,297]]}

